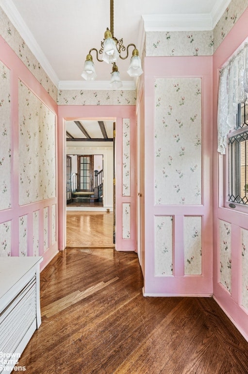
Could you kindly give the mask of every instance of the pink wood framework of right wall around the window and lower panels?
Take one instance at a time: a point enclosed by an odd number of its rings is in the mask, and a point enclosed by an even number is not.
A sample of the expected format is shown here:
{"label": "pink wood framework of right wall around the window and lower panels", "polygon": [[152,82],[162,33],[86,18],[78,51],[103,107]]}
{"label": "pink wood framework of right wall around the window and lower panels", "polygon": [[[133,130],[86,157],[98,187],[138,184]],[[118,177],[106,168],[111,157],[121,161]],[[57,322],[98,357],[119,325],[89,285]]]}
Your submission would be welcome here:
{"label": "pink wood framework of right wall around the window and lower panels", "polygon": [[[248,340],[248,314],[241,306],[241,228],[248,229],[248,215],[223,207],[224,156],[217,152],[218,70],[248,37],[248,9],[233,26],[213,56],[213,191],[214,191],[214,297]],[[218,220],[231,224],[231,294],[219,282]]]}

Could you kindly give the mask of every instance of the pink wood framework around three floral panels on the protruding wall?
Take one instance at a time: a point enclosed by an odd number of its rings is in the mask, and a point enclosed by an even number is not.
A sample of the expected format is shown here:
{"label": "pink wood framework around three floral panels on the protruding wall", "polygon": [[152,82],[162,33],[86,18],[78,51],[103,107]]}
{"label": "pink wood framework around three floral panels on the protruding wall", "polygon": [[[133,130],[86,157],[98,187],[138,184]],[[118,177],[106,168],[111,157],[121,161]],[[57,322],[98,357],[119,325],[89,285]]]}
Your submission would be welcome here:
{"label": "pink wood framework around three floral panels on the protruding wall", "polygon": [[[147,296],[179,296],[213,294],[212,284],[212,56],[147,57],[145,69],[145,285]],[[157,78],[200,78],[202,82],[202,204],[155,204],[154,188],[154,111]],[[157,81],[157,80],[156,80]],[[158,81],[159,82],[159,81]],[[193,95],[194,97],[194,95]],[[168,103],[165,104],[165,114]],[[165,144],[162,147],[166,147]],[[165,162],[165,164],[167,164]],[[165,165],[166,166],[166,165]],[[162,167],[163,168],[163,167]],[[190,186],[183,186],[184,189]],[[166,190],[165,192],[166,193]],[[174,217],[173,276],[154,275],[155,228],[154,217]],[[202,275],[184,275],[183,218],[202,216]]]}

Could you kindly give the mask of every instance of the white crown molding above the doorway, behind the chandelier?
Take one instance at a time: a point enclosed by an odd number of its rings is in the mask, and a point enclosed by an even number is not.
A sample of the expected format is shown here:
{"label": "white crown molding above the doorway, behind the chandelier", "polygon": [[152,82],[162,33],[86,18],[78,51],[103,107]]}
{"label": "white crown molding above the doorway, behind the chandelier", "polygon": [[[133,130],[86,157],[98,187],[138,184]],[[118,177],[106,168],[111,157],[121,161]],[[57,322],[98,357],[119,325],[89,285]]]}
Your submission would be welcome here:
{"label": "white crown molding above the doorway, behind the chandelier", "polygon": [[123,86],[113,89],[108,80],[60,80],[59,90],[103,90],[103,91],[135,91],[135,82],[132,80],[122,81]]}

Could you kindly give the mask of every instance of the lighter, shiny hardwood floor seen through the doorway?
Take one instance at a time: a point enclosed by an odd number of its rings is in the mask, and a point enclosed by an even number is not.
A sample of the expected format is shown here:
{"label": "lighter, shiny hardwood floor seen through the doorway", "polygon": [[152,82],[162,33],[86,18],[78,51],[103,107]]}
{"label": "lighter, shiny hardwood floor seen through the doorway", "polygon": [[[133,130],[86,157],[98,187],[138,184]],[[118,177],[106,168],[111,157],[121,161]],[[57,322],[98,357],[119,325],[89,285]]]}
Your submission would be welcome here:
{"label": "lighter, shiny hardwood floor seen through the doorway", "polygon": [[67,211],[66,247],[115,248],[113,212]]}

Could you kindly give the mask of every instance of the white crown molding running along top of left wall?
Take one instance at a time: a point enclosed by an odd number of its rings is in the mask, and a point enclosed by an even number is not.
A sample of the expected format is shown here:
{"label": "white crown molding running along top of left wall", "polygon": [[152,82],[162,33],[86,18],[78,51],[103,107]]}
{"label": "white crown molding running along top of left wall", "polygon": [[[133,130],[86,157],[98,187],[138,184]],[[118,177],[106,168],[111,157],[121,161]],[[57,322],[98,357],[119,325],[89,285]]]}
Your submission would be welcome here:
{"label": "white crown molding running along top of left wall", "polygon": [[21,18],[17,8],[13,4],[12,0],[0,0],[0,6],[9,20],[13,23],[13,26],[17,29],[20,36],[23,38],[33,55],[37,58],[42,68],[45,70],[51,81],[58,87],[59,78],[52,69],[47,57],[42,52],[37,41],[33,37],[28,26]]}

